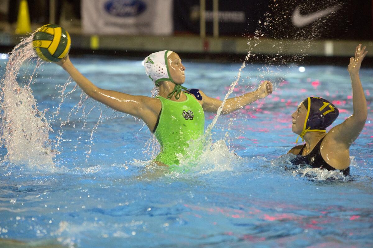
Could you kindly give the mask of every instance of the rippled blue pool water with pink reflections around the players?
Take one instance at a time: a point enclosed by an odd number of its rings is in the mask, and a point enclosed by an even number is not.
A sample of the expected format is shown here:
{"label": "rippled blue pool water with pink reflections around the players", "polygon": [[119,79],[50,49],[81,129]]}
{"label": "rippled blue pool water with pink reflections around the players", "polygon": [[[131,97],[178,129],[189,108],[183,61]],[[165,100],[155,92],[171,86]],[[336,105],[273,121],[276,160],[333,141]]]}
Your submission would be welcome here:
{"label": "rippled blue pool water with pink reflections around the players", "polygon": [[[140,59],[72,61],[100,88],[151,96]],[[291,113],[305,97],[334,101],[341,112],[334,125],[352,114],[347,64],[306,66],[304,73],[295,65],[247,65],[231,96],[264,79],[275,83],[274,93],[220,116],[212,147],[190,171],[157,176],[145,170],[156,148],[140,120],[85,99],[73,82],[64,89],[68,74],[57,65],[44,63],[33,74],[35,60],[27,62],[18,81],[31,82],[38,109],[49,109],[57,152],[53,165],[32,160],[34,153],[10,161],[1,148],[0,246],[16,239],[89,248],[371,247],[373,69],[360,73],[369,114],[351,146],[349,177],[284,170],[290,156],[280,157],[295,145]],[[185,85],[223,99],[240,66],[187,61]],[[213,117],[206,114],[206,127]]]}

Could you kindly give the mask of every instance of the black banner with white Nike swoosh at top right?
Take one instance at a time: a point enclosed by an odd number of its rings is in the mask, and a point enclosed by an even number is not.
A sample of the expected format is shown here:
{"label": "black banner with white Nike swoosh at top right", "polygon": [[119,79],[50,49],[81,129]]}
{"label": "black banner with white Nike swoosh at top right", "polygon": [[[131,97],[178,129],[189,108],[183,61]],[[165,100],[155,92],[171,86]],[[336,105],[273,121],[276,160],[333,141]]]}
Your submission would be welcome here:
{"label": "black banner with white Nike swoosh at top right", "polygon": [[276,0],[264,33],[288,39],[372,39],[371,0]]}

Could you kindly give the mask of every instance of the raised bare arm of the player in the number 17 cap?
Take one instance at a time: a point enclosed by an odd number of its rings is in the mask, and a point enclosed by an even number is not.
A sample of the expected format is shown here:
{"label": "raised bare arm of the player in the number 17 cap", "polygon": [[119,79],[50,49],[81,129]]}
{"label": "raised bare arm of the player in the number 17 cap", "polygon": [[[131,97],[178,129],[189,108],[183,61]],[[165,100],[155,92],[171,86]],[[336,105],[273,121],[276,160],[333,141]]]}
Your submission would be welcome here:
{"label": "raised bare arm of the player in the number 17 cap", "polygon": [[363,61],[367,51],[365,46],[361,49],[361,44],[356,47],[355,57],[350,58],[348,72],[351,77],[352,84],[352,103],[354,105],[354,113],[344,122],[335,126],[330,130],[328,135],[340,144],[350,147],[352,142],[357,139],[360,132],[363,130],[367,119],[367,102],[365,100],[364,90],[361,86],[359,71],[361,62]]}

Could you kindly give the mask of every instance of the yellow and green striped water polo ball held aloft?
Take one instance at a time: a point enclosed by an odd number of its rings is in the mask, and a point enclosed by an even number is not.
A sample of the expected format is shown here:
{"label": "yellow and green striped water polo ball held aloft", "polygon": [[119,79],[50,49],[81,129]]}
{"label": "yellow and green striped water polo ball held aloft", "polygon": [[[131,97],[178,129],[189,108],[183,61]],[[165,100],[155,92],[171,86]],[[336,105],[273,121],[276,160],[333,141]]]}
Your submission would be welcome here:
{"label": "yellow and green striped water polo ball held aloft", "polygon": [[60,61],[68,54],[70,45],[71,39],[68,31],[55,24],[38,28],[32,41],[37,55],[48,62]]}

